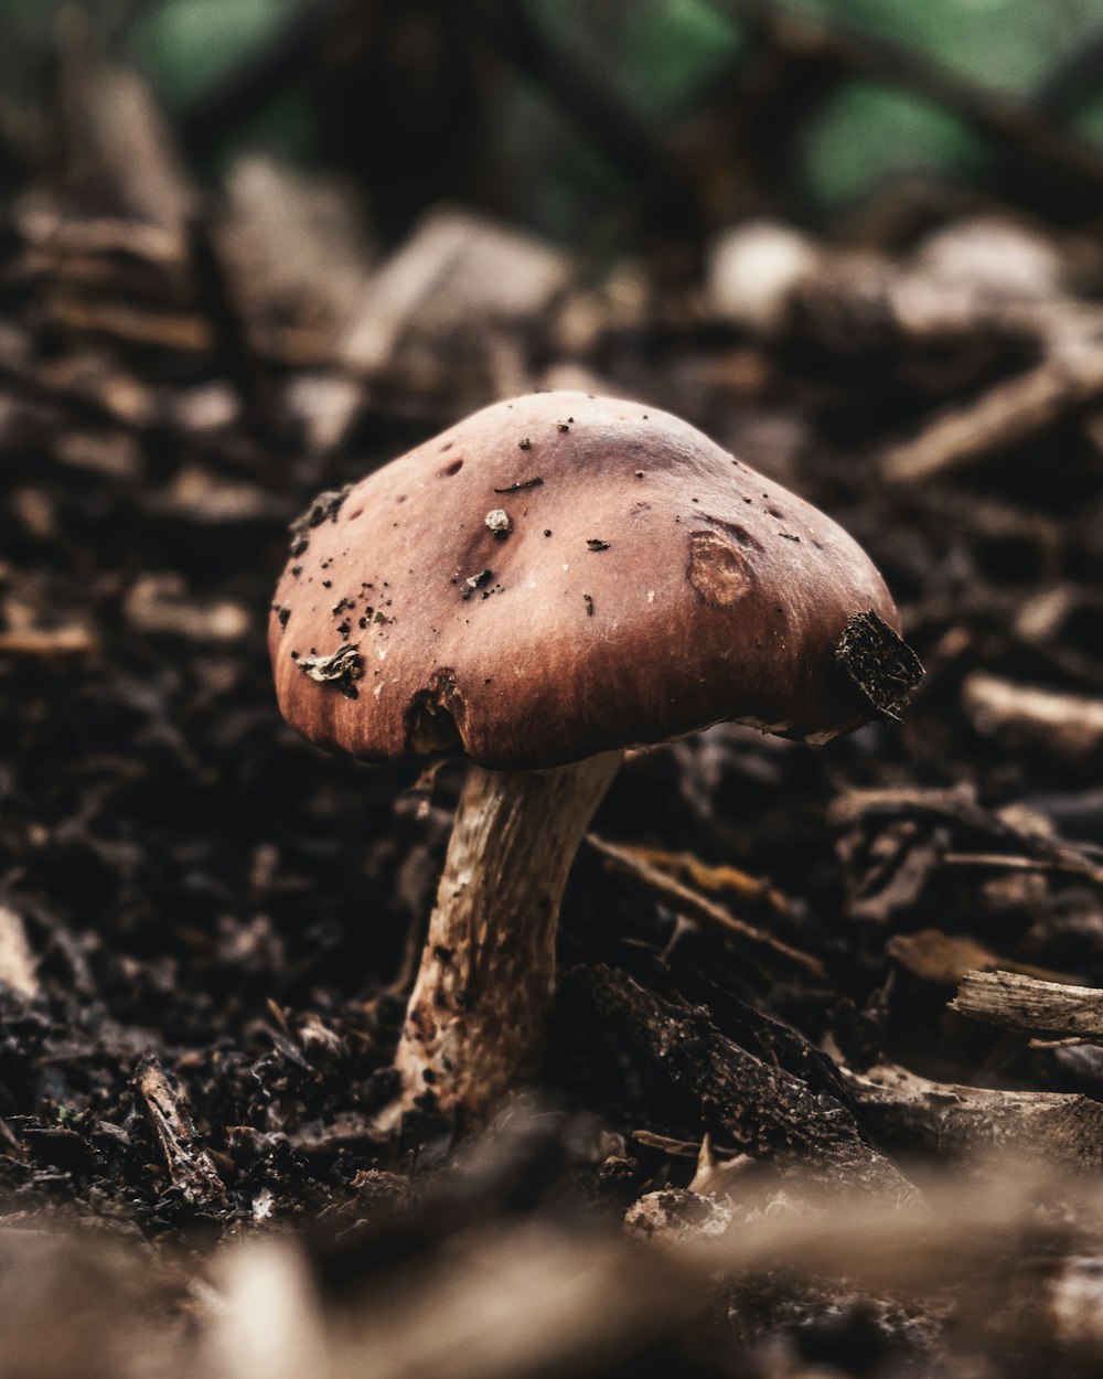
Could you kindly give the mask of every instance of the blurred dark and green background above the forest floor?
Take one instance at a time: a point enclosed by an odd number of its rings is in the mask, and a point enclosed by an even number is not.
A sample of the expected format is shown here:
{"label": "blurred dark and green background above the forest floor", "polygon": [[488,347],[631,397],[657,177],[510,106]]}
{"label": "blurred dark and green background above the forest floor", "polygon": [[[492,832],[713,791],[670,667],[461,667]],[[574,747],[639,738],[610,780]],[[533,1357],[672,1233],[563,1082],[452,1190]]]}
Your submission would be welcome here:
{"label": "blurred dark and green background above the forest floor", "polygon": [[[900,177],[1030,203],[1037,141],[1103,137],[1092,0],[6,0],[3,22],[10,186],[72,154],[51,106],[97,61],[141,73],[208,185],[247,153],[339,170],[383,245],[454,196],[594,247],[841,223]],[[685,204],[642,226],[641,183]]]}

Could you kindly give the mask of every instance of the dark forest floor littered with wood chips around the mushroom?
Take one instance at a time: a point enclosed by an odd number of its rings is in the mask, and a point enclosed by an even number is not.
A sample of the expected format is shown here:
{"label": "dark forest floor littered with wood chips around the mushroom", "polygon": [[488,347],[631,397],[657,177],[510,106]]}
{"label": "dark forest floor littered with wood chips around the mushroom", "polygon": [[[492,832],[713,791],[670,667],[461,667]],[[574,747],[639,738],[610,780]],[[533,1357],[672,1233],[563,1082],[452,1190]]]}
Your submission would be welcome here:
{"label": "dark forest floor littered with wood chips around the mushroom", "polygon": [[[252,177],[0,230],[0,1373],[1097,1372],[1097,255],[918,210],[749,321],[441,211],[323,288]],[[557,386],[830,512],[927,676],[633,753],[535,1085],[386,1140],[462,767],[291,732],[269,603],[314,492]]]}

